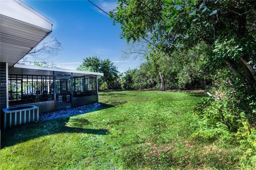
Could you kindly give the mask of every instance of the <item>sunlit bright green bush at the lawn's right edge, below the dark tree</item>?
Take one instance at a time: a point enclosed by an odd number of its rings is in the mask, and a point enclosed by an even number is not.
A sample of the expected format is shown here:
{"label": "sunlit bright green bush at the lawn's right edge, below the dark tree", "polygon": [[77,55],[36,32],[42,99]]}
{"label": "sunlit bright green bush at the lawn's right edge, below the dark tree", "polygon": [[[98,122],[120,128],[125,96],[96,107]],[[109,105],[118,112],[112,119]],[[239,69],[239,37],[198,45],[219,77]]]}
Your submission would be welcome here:
{"label": "sunlit bright green bush at the lawn's right edge, below the dark tree", "polygon": [[237,145],[244,150],[241,163],[251,168],[256,163],[256,129],[243,105],[235,97],[205,98],[195,108],[196,131],[192,137],[203,142],[225,141]]}

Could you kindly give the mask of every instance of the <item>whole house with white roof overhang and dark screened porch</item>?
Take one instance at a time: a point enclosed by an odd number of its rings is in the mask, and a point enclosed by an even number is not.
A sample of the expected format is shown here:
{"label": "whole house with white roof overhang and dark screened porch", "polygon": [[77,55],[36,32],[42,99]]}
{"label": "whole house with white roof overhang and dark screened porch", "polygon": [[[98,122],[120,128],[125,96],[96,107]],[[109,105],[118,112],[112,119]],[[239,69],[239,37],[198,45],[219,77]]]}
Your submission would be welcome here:
{"label": "whole house with white roof overhang and dark screened porch", "polygon": [[[34,110],[32,112],[21,107],[25,105],[33,105],[39,109],[39,113],[43,113],[98,103],[98,78],[103,73],[18,63],[52,32],[53,22],[21,1],[0,3],[2,126],[38,120],[38,114]],[[4,108],[9,107],[17,109],[3,112],[6,111]]]}

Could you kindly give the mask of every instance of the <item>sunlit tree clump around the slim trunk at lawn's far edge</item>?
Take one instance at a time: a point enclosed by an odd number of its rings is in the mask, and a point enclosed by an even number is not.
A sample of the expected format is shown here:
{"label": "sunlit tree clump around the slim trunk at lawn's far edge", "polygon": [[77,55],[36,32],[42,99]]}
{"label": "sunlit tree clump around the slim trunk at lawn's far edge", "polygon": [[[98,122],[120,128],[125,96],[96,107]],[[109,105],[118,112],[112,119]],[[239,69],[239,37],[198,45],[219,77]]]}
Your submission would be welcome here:
{"label": "sunlit tree clump around the slim trunk at lawn's far edge", "polygon": [[133,80],[130,81],[133,83],[130,87],[160,89],[161,74],[164,75],[165,89],[204,89],[211,81],[209,62],[205,60],[209,53],[210,49],[204,43],[175,52],[175,57],[168,57],[159,50],[150,50],[147,62],[133,70],[132,74],[127,72],[127,78]]}

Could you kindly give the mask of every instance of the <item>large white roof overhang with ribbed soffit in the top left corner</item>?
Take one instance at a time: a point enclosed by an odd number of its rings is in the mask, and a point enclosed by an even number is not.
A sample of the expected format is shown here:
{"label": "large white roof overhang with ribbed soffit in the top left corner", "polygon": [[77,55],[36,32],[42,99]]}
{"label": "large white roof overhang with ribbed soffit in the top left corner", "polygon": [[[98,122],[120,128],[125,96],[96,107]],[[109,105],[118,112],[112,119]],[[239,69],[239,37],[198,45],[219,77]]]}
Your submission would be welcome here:
{"label": "large white roof overhang with ribbed soffit in the top left corner", "polygon": [[21,1],[0,1],[0,62],[17,63],[52,32],[52,25]]}

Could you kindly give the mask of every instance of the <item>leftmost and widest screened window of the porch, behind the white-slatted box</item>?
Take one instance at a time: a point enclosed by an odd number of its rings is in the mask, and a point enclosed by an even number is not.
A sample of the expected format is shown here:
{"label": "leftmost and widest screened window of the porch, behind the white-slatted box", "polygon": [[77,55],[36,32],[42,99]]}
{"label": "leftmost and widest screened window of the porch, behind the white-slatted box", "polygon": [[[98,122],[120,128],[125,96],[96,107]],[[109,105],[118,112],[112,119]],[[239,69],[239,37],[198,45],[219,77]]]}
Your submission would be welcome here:
{"label": "leftmost and widest screened window of the porch, behind the white-slatted box", "polygon": [[53,76],[9,75],[9,104],[53,100]]}

